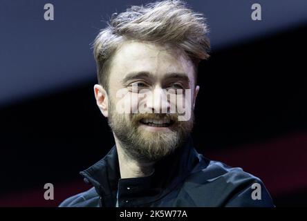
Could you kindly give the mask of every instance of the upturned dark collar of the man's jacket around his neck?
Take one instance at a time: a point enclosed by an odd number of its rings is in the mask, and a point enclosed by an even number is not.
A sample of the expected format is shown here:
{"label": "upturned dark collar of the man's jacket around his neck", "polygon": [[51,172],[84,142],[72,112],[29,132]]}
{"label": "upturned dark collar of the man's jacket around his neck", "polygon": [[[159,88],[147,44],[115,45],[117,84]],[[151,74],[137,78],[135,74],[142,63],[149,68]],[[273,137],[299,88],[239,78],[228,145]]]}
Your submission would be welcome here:
{"label": "upturned dark collar of the man's jacket around his neck", "polygon": [[[102,206],[115,206],[118,189],[122,193],[119,198],[133,197],[133,206],[145,205],[169,193],[192,171],[200,170],[201,166],[197,166],[200,160],[189,137],[174,153],[157,162],[154,173],[148,177],[120,179],[116,146],[102,160],[80,174],[93,184],[103,200]],[[131,189],[128,193],[124,191],[127,186]]]}

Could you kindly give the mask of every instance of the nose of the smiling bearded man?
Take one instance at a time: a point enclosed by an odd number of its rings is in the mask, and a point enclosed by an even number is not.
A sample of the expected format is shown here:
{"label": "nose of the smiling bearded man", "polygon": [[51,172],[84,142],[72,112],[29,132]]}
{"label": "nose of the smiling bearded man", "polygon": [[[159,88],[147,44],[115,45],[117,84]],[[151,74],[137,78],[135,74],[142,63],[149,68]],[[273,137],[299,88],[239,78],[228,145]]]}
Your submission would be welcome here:
{"label": "nose of the smiling bearded man", "polygon": [[147,97],[147,108],[151,109],[152,113],[169,113],[167,93],[160,86],[156,86],[154,92]]}

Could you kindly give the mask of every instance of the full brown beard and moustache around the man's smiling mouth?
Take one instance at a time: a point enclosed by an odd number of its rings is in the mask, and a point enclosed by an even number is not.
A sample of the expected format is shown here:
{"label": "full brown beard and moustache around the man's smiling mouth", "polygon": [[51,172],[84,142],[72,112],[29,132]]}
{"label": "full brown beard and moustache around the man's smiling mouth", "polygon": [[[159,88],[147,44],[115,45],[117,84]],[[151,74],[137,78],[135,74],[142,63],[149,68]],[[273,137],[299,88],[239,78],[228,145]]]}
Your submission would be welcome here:
{"label": "full brown beard and moustache around the man's smiling mouth", "polygon": [[[120,114],[109,103],[108,123],[124,153],[139,162],[157,162],[183,145],[192,132],[194,113],[188,121],[178,121],[178,114],[131,113]],[[147,131],[141,129],[144,119],[167,119],[169,130]]]}

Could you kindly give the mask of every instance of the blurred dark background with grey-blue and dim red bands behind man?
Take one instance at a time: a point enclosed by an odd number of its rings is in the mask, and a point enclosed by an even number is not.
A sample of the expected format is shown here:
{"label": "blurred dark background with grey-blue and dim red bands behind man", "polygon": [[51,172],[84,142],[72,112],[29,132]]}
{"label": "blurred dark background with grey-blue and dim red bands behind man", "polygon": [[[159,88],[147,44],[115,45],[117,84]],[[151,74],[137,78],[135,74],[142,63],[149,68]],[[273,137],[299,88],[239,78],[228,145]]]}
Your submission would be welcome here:
{"label": "blurred dark background with grey-blue and dim red bands behind man", "polygon": [[[0,206],[57,206],[113,137],[93,96],[91,41],[112,12],[148,1],[0,1]],[[196,149],[263,180],[277,206],[306,206],[307,2],[188,1],[210,26]],[[262,20],[252,21],[252,3]],[[44,184],[55,200],[44,200]]]}

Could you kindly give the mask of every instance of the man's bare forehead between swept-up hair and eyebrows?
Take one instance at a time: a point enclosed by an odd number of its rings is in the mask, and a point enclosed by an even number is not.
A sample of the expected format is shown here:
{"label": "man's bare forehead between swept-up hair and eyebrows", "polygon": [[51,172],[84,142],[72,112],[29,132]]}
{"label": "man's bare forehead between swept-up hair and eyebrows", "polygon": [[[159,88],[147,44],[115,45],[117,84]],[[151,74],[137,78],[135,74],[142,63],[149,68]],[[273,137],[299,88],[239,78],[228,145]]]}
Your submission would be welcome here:
{"label": "man's bare forehead between swept-up hair and eyebrows", "polygon": [[129,73],[148,72],[157,78],[166,73],[185,73],[194,76],[194,65],[183,52],[167,46],[127,41],[115,52],[110,73],[113,80],[123,79]]}

